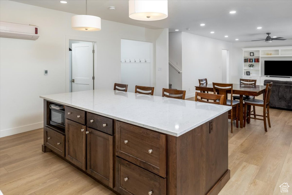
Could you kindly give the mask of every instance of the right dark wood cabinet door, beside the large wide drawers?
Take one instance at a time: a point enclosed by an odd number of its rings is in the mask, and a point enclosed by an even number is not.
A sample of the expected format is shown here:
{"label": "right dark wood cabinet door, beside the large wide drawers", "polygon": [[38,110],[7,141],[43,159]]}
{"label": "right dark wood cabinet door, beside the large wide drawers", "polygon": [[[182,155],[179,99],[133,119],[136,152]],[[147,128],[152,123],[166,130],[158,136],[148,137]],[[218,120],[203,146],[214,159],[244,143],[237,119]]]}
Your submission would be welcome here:
{"label": "right dark wood cabinet door, beside the large wide drawers", "polygon": [[113,136],[87,128],[87,172],[113,188]]}

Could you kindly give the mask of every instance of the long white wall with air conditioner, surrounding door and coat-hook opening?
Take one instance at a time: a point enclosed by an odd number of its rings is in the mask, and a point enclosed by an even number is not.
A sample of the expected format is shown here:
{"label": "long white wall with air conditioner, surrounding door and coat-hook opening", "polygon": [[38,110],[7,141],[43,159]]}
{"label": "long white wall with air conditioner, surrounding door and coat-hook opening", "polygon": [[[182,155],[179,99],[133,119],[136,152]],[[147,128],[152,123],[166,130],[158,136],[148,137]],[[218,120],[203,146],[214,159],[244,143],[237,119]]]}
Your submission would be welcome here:
{"label": "long white wall with air conditioner, surrounding door and coat-hook opening", "polygon": [[[154,62],[163,68],[163,71],[154,72],[158,94],[161,95],[162,87],[168,86],[168,29],[152,30],[102,20],[101,31],[82,32],[71,29],[72,15],[14,1],[0,1],[1,21],[37,25],[40,35],[35,41],[0,38],[1,137],[41,128],[43,100],[39,96],[66,91],[66,35],[98,39],[95,86],[106,89],[112,89],[115,82],[120,82],[121,36],[150,39],[157,47],[154,47],[157,56]],[[44,75],[44,69],[48,69],[48,75]]]}

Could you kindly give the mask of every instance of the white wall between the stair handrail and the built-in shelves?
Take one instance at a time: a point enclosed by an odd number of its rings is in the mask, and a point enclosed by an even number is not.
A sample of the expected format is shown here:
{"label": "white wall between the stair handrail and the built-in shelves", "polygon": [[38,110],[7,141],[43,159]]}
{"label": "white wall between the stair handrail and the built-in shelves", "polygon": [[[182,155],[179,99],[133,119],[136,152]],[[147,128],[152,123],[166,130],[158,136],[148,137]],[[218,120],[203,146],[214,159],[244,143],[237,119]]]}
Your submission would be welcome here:
{"label": "white wall between the stair handrail and the built-in shelves", "polygon": [[[229,50],[232,43],[182,32],[183,90],[186,98],[193,97],[198,79],[207,78],[208,83],[221,82],[221,50]],[[230,82],[234,82],[236,65],[230,59]],[[238,77],[239,78],[239,77]]]}

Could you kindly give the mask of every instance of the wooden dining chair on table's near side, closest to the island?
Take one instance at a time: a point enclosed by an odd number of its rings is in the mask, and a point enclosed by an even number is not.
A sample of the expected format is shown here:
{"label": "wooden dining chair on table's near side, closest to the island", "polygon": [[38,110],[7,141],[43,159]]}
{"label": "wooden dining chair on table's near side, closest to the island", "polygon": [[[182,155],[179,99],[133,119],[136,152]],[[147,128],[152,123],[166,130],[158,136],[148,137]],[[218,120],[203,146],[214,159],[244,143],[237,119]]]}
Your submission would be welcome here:
{"label": "wooden dining chair on table's near side, closest to the island", "polygon": [[[214,83],[213,82],[213,92],[214,94],[224,95],[225,98],[223,99],[223,105],[232,106],[232,109],[228,111],[228,119],[231,120],[231,133],[233,133],[233,121],[236,120],[236,127],[238,128],[238,105],[239,101],[227,99],[227,94],[233,95],[233,84],[228,83]],[[235,115],[234,115],[235,109]]]}

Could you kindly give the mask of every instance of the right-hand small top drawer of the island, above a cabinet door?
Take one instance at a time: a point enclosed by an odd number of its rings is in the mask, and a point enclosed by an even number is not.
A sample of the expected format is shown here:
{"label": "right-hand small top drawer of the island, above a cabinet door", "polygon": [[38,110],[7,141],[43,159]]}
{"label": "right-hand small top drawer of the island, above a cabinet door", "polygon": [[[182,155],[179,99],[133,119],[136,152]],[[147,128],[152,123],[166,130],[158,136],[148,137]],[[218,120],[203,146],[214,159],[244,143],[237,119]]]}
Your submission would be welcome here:
{"label": "right-hand small top drawer of the island, above a cabinet door", "polygon": [[87,126],[99,131],[113,134],[113,120],[93,113],[87,113]]}

